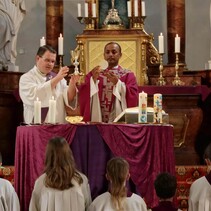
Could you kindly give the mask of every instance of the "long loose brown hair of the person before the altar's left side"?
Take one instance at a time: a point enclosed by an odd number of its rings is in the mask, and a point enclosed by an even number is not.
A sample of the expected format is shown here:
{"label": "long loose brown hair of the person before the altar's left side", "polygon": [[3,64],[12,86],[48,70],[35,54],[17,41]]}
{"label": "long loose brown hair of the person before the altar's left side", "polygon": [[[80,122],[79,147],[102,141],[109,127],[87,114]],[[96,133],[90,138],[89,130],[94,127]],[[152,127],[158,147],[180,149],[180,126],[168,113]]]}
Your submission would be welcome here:
{"label": "long loose brown hair of the person before the altar's left side", "polygon": [[59,190],[69,189],[73,187],[72,179],[75,179],[78,184],[83,183],[81,175],[76,170],[70,146],[62,137],[49,140],[44,172],[46,173],[46,187]]}

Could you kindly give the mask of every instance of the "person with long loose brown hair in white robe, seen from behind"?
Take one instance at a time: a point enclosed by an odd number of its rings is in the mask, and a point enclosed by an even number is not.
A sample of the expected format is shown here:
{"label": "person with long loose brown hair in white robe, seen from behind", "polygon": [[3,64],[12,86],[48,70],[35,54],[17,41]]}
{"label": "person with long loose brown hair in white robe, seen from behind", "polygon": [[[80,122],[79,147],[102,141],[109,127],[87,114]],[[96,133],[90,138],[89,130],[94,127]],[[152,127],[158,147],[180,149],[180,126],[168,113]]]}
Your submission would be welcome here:
{"label": "person with long loose brown hair in white robe, seen from behind", "polygon": [[29,211],[85,211],[90,203],[88,179],[76,169],[69,144],[62,137],[50,139],[44,174],[35,182]]}

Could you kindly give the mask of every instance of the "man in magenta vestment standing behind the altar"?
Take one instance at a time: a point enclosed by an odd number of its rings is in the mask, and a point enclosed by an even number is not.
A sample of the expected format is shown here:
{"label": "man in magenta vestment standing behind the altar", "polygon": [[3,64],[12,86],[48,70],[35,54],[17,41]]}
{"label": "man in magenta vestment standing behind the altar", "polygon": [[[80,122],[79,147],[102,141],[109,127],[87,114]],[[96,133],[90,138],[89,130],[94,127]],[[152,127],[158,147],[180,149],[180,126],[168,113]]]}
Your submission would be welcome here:
{"label": "man in magenta vestment standing behind the altar", "polygon": [[134,73],[119,65],[121,46],[109,42],[104,47],[106,69],[96,66],[80,86],[80,112],[84,121],[113,122],[126,108],[138,104],[138,85]]}

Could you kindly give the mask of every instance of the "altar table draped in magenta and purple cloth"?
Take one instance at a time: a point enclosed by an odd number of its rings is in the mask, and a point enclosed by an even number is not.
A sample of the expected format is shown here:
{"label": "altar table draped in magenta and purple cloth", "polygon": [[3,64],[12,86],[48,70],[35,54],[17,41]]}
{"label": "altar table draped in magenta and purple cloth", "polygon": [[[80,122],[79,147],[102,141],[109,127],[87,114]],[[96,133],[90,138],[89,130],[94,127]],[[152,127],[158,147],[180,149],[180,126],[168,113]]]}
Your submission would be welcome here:
{"label": "altar table draped in magenta and purple cloth", "polygon": [[43,172],[50,138],[66,138],[79,170],[87,175],[92,198],[107,190],[106,162],[122,156],[130,164],[131,180],[151,207],[158,203],[153,181],[159,172],[175,173],[172,125],[59,124],[19,126],[15,148],[15,190],[27,211],[34,182]]}

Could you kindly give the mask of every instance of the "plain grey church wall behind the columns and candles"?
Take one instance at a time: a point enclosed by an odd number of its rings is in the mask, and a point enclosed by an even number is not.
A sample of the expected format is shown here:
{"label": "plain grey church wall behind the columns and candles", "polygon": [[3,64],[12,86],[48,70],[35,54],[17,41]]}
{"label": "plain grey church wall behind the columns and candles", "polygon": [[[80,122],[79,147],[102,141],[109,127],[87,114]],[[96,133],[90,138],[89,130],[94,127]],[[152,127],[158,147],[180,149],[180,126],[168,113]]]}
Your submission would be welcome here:
{"label": "plain grey church wall behind the columns and candles", "polygon": [[[160,32],[167,34],[166,0],[145,0],[145,30],[153,33],[154,45],[158,46]],[[83,32],[84,26],[76,18],[77,3],[84,0],[63,0],[64,2],[64,64],[70,65],[70,50],[76,47],[75,37]],[[210,0],[185,0],[186,2],[186,63],[190,70],[204,69],[210,58],[211,27]],[[45,0],[26,0],[27,14],[21,24],[17,42],[16,65],[20,71],[28,71],[35,61],[39,40],[45,36]],[[82,12],[83,14],[83,12]],[[167,40],[165,51],[167,52]],[[164,64],[167,55],[164,55]]]}

